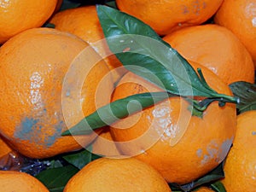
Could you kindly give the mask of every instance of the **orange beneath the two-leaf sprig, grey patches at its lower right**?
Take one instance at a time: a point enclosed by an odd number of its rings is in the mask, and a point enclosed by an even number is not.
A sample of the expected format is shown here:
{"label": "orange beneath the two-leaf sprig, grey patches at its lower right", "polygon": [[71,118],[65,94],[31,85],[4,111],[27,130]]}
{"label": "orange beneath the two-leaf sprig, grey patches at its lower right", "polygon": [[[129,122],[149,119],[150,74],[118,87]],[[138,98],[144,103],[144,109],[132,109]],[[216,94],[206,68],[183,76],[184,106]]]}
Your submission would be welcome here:
{"label": "orange beneath the two-leaf sprig, grey patches at its lower right", "polygon": [[[214,90],[231,95],[228,85],[214,73],[199,64],[193,63],[193,66],[202,68],[207,83]],[[127,73],[114,91],[113,101],[156,90],[160,89],[133,73]],[[135,158],[153,166],[168,183],[190,183],[211,171],[224,160],[230,149],[236,130],[236,106],[227,103],[220,108],[218,102],[213,102],[202,118],[192,116],[188,108],[188,102],[174,96],[144,109],[139,115],[133,114],[111,125],[115,141],[132,141],[117,143],[120,153],[136,155],[137,149],[140,150]],[[149,134],[137,142],[148,130],[154,135]],[[183,131],[183,137],[179,137]],[[148,142],[150,139],[154,143]]]}

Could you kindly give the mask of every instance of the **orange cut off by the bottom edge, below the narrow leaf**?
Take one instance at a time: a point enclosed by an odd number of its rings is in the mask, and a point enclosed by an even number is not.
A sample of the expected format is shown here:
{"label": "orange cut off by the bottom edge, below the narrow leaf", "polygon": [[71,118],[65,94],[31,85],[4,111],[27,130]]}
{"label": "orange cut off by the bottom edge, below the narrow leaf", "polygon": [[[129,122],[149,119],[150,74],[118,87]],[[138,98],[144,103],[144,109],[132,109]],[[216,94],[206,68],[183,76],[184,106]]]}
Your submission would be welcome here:
{"label": "orange cut off by the bottom edge, below the narrow leaf", "polygon": [[64,192],[167,192],[165,179],[140,160],[101,158],[84,166],[67,183]]}

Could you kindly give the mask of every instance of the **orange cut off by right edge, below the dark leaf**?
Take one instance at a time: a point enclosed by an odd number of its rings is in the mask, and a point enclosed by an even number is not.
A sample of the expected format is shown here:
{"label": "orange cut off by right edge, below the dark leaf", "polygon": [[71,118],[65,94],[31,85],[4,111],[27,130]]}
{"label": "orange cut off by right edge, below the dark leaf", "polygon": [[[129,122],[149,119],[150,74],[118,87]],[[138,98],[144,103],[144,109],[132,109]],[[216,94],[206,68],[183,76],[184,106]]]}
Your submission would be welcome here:
{"label": "orange cut off by right edge, below the dark leaf", "polygon": [[256,188],[256,111],[237,116],[236,137],[224,164],[227,191],[253,192]]}

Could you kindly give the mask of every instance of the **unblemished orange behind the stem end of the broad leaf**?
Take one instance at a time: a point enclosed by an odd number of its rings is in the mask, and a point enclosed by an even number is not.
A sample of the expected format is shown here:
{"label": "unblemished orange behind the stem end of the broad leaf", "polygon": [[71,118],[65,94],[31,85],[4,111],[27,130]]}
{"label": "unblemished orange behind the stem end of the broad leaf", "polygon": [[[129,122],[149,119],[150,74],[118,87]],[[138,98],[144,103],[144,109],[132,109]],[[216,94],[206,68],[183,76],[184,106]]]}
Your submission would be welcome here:
{"label": "unblemished orange behind the stem end of the broad leaf", "polygon": [[227,84],[254,82],[251,55],[239,39],[223,26],[190,26],[163,39],[186,59],[211,69]]}

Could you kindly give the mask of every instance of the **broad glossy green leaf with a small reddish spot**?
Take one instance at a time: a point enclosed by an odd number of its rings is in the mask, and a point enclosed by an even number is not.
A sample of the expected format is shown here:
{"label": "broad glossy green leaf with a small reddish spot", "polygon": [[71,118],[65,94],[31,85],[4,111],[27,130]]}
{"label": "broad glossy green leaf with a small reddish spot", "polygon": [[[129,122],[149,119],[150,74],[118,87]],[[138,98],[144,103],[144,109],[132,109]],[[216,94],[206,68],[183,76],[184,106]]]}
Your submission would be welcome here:
{"label": "broad glossy green leaf with a small reddish spot", "polygon": [[182,55],[137,18],[97,5],[108,46],[131,72],[179,96],[216,96]]}

